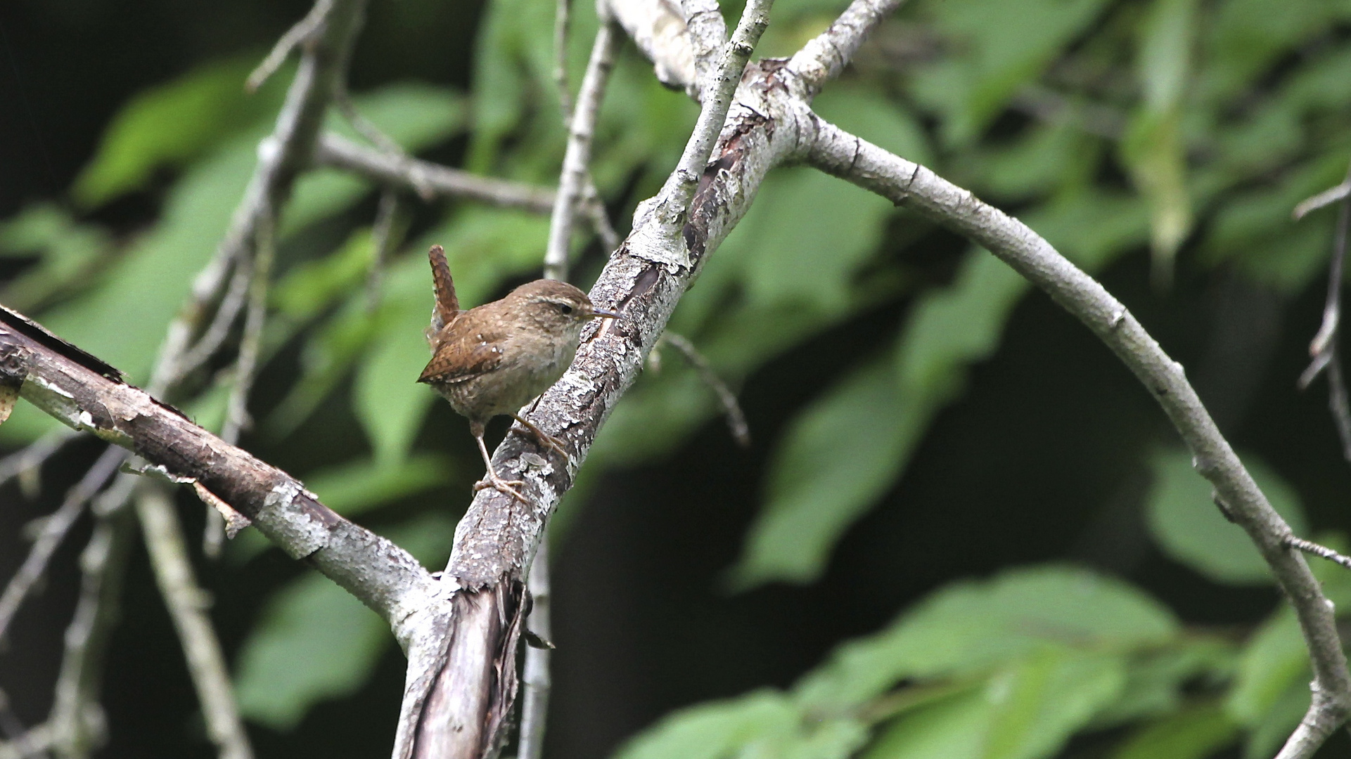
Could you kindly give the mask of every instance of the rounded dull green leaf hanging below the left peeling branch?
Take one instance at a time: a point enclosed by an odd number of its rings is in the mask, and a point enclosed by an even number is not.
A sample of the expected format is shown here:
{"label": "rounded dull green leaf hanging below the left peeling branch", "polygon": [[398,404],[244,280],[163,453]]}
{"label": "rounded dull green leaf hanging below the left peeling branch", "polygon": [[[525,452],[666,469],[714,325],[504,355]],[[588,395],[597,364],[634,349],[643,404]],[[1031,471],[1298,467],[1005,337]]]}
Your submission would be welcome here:
{"label": "rounded dull green leaf hanging below the left peeling branch", "polygon": [[355,693],[392,637],[385,623],[327,577],[307,574],[267,601],[239,652],[245,717],[295,728],[319,701]]}

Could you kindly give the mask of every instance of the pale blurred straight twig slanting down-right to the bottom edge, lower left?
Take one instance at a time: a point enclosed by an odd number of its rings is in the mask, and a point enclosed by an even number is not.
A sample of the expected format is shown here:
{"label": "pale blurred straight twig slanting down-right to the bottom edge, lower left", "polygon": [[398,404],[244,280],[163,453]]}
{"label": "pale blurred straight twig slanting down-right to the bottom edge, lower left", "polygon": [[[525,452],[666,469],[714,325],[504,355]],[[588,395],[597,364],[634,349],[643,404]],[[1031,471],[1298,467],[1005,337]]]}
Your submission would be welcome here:
{"label": "pale blurred straight twig slanting down-right to the bottom edge, lower left", "polygon": [[135,501],[150,566],[182,643],[188,673],[207,721],[207,735],[219,747],[220,759],[251,759],[253,748],[235,705],[226,656],[207,614],[211,602],[193,578],[173,500],[161,483],[142,482]]}

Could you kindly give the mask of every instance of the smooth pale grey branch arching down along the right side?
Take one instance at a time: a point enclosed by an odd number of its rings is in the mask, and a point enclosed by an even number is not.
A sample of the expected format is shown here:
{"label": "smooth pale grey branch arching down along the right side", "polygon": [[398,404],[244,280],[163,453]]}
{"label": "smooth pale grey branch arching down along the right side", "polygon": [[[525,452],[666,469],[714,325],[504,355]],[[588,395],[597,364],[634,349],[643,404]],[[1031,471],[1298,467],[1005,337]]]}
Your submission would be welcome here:
{"label": "smooth pale grey branch arching down along the right side", "polygon": [[1313,663],[1313,704],[1281,759],[1309,756],[1351,713],[1351,674],[1332,604],[1304,556],[1286,547],[1290,527],[1267,502],[1188,382],[1139,321],[1102,285],[1081,271],[1025,224],[981,203],[928,169],[817,119],[805,161],[830,174],[905,204],[985,246],[1084,321],[1163,407],[1192,448],[1197,471],[1215,485],[1235,521],[1256,544],[1294,606]]}

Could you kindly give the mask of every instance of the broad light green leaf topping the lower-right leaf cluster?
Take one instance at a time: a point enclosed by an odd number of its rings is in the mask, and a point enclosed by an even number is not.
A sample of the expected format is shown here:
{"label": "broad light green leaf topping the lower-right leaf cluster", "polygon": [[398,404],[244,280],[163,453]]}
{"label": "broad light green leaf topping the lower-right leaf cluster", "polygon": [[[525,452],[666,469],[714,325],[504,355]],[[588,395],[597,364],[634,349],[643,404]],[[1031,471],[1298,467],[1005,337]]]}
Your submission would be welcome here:
{"label": "broad light green leaf topping the lower-right leaf cluster", "polygon": [[840,646],[797,691],[834,712],[905,678],[982,673],[1047,647],[1127,652],[1177,635],[1173,614],[1124,582],[1074,567],[1009,570],[943,587],[888,629]]}

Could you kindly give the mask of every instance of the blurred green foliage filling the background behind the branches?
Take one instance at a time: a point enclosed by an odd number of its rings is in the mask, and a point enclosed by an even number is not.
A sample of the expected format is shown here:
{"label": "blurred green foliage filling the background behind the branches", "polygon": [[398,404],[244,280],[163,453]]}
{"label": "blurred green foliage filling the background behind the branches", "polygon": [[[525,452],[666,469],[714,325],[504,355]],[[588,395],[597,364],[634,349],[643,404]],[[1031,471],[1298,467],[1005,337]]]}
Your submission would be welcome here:
{"label": "blurred green foliage filling the background behind the branches", "polygon": [[[782,0],[763,51],[790,54],[843,4]],[[574,5],[576,86],[596,19],[590,4]],[[1351,154],[1347,24],[1351,3],[1331,0],[916,0],[815,105],[1015,209],[1090,273],[1151,248],[1159,286],[1181,254],[1296,293],[1323,266],[1331,226],[1327,213],[1294,224],[1290,209],[1340,181]],[[551,184],[565,136],[551,38],[553,4],[490,0],[471,92],[407,82],[363,93],[357,107],[409,151],[462,139],[469,169]],[[145,380],[280,103],[285,72],[258,95],[242,95],[251,62],[189,72],[134,97],[108,126],[70,201],[97,208],[172,172],[149,228],[113,239],[53,204],[4,221],[0,255],[30,262],[5,303]],[[628,213],[655,190],[694,115],[626,51],[593,165],[612,209]],[[351,134],[338,119],[331,126]],[[440,486],[455,469],[417,446],[432,404],[412,381],[427,359],[422,330],[431,305],[422,251],[446,246],[461,298],[474,305],[532,276],[547,235],[542,216],[435,207],[388,262],[373,304],[374,246],[369,221],[354,213],[373,190],[327,170],[297,185],[265,346],[269,357],[296,346],[299,361],[258,427],[289,440],[315,409],[350,404],[366,455],[301,473],[350,516]],[[673,330],[735,386],[869,308],[911,303],[900,328],[877,335],[773,442],[765,502],[730,570],[735,587],[815,582],[840,536],[904,475],[936,415],[961,397],[970,367],[998,348],[1028,285],[975,247],[952,273],[935,273],[913,254],[931,232],[857,188],[781,169],[677,311]],[[588,477],[662,456],[719,413],[689,367],[666,365],[615,411]],[[197,394],[176,401],[216,425],[228,378],[199,380]],[[20,407],[0,436],[16,444],[49,428]],[[1302,532],[1293,490],[1246,458]],[[1140,463],[1152,473],[1150,525],[1163,551],[1220,583],[1270,582],[1183,452],[1158,450]],[[576,501],[566,508],[582,508]],[[423,560],[443,559],[451,540],[442,517],[401,517],[386,532]],[[234,547],[239,559],[259,550],[247,540]],[[1340,608],[1351,608],[1351,582],[1320,573]],[[245,644],[245,712],[295,725],[315,704],[359,687],[389,644],[359,604],[326,579],[300,578],[273,596]],[[1217,635],[1183,627],[1121,581],[1027,567],[942,587],[888,628],[839,646],[794,686],[676,712],[619,755],[1036,759],[1075,735],[1116,731],[1116,759],[1201,759],[1238,743],[1255,758],[1298,721],[1306,681],[1288,610],[1251,635]]]}

